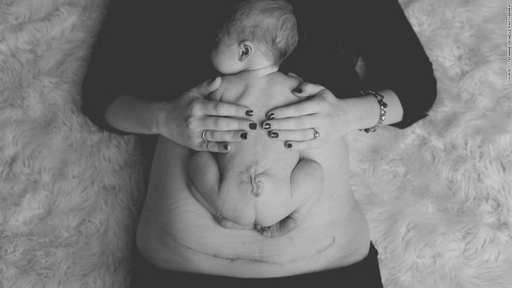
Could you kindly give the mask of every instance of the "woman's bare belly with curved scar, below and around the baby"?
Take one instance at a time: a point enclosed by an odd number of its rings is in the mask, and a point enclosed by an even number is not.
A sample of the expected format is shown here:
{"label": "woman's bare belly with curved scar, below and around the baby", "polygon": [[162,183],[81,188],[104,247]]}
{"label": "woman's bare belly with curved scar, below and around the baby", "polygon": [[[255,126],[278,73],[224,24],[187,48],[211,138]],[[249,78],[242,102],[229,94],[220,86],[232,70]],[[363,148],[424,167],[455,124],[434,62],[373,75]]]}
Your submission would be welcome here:
{"label": "woman's bare belly with curved scar, below and around the baby", "polygon": [[[334,141],[333,141],[334,142]],[[369,227],[350,191],[343,140],[307,150],[324,169],[321,198],[301,225],[278,238],[227,230],[191,195],[190,151],[161,137],[138,224],[142,255],[163,269],[269,278],[348,266],[369,250]]]}

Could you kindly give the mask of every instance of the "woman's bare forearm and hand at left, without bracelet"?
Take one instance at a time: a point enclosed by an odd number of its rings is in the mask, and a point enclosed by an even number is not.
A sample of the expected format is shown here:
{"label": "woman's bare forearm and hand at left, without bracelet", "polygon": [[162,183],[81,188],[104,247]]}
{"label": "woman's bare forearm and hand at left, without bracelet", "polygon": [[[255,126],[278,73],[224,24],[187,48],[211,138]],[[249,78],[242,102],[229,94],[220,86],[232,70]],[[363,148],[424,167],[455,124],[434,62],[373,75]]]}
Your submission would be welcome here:
{"label": "woman's bare forearm and hand at left, without bracelet", "polygon": [[[193,150],[228,152],[230,146],[225,142],[243,141],[240,134],[253,121],[224,117],[247,117],[248,107],[204,99],[220,85],[221,77],[207,80],[172,102],[122,96],[106,108],[104,119],[119,131],[159,134]],[[209,141],[202,138],[204,130]]]}

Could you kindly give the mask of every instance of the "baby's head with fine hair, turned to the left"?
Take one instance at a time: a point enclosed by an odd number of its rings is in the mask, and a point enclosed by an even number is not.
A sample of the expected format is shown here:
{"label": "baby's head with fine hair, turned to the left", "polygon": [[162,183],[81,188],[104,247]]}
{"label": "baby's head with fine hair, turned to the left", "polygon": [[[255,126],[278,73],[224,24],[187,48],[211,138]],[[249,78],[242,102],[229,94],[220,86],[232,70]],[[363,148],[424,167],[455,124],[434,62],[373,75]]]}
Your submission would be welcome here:
{"label": "baby's head with fine hair, turned to the left", "polygon": [[297,22],[284,0],[243,1],[217,39],[211,62],[218,72],[236,74],[265,62],[278,66],[297,45]]}

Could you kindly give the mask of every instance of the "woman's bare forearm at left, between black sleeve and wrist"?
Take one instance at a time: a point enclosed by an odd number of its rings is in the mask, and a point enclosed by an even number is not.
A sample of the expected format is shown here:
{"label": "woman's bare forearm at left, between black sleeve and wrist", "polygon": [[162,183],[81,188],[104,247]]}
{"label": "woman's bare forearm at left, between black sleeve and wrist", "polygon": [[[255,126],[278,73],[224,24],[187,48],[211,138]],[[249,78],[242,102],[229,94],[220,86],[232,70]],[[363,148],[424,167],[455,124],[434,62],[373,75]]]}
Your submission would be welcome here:
{"label": "woman's bare forearm at left, between black sleeve and wrist", "polygon": [[159,102],[132,96],[115,99],[105,111],[106,122],[121,131],[136,134],[157,134],[155,109]]}

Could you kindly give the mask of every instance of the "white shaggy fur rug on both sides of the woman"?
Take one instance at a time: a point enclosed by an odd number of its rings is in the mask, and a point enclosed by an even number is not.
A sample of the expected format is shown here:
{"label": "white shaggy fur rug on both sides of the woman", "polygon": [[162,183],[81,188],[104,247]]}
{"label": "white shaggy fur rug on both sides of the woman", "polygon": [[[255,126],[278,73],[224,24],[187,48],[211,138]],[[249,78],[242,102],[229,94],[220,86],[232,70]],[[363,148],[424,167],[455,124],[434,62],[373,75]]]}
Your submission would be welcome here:
{"label": "white shaggy fur rug on both sides of the woman", "polygon": [[[79,110],[104,1],[0,0],[0,287],[129,283],[145,162]],[[400,2],[438,99],[413,127],[349,135],[384,285],[512,287],[506,1]]]}

